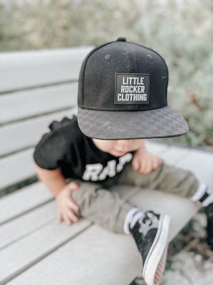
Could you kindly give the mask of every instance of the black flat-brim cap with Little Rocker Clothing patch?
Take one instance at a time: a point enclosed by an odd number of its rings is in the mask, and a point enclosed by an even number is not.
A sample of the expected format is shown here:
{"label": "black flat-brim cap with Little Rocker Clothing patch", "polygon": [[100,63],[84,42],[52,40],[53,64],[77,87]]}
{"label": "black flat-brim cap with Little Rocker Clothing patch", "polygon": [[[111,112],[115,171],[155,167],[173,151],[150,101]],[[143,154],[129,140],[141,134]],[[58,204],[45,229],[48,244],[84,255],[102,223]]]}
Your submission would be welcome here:
{"label": "black flat-brim cap with Little Rocker Clothing patch", "polygon": [[168,69],[152,49],[116,42],[99,45],[83,61],[78,124],[88,137],[124,140],[176,137],[185,119],[167,105]]}

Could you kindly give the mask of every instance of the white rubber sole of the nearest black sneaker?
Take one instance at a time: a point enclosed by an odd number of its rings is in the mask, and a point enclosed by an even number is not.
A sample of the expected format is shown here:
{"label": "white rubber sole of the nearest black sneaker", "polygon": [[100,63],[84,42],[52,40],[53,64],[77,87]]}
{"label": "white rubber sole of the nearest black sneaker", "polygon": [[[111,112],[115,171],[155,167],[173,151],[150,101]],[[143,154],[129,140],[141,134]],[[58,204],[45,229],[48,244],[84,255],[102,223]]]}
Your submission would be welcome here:
{"label": "white rubber sole of the nearest black sneaker", "polygon": [[157,285],[165,268],[169,221],[169,216],[160,216],[156,237],[143,265],[143,277],[148,285]]}

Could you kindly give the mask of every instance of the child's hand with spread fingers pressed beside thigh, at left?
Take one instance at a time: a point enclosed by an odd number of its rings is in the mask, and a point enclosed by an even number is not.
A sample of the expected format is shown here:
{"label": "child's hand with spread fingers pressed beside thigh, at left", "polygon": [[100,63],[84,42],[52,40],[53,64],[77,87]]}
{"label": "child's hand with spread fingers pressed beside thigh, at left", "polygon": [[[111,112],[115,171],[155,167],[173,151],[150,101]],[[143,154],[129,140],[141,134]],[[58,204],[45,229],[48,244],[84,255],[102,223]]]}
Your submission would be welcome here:
{"label": "child's hand with spread fingers pressed beside thigh, at left", "polygon": [[58,193],[56,196],[57,203],[57,222],[61,223],[62,220],[67,225],[71,225],[72,222],[77,222],[78,217],[73,211],[78,211],[79,206],[72,199],[72,192],[77,190],[79,185],[76,182],[70,182]]}

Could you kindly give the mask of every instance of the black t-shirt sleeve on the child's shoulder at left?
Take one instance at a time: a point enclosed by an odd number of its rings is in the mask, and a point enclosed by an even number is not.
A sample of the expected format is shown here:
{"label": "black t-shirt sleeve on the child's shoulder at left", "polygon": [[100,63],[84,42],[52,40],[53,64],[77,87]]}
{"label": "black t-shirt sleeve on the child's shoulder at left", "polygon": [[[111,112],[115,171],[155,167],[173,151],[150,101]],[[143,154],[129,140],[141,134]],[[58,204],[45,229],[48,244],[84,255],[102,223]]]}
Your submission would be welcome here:
{"label": "black t-shirt sleeve on the child's shoulder at left", "polygon": [[65,154],[66,140],[60,131],[49,132],[37,144],[33,158],[41,168],[53,170]]}

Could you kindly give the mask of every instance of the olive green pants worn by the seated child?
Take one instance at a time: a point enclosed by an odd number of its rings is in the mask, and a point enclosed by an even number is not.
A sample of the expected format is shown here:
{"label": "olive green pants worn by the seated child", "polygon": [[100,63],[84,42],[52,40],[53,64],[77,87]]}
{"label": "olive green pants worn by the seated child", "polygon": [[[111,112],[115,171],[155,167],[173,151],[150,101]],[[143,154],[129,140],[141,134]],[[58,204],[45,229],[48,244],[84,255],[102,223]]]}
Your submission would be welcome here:
{"label": "olive green pants worn by the seated child", "polygon": [[[105,182],[76,181],[80,187],[73,191],[72,198],[79,205],[78,217],[83,217],[104,227],[105,229],[123,233],[123,222],[127,212],[134,207],[130,202],[122,200],[119,195],[109,191],[115,184],[140,186],[157,189],[179,196],[191,197],[198,189],[199,182],[195,176],[183,169],[163,163],[148,175],[133,170],[131,162],[126,164],[121,173]],[[143,211],[143,209],[140,209]],[[153,209],[154,210],[154,209]]]}

